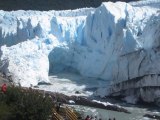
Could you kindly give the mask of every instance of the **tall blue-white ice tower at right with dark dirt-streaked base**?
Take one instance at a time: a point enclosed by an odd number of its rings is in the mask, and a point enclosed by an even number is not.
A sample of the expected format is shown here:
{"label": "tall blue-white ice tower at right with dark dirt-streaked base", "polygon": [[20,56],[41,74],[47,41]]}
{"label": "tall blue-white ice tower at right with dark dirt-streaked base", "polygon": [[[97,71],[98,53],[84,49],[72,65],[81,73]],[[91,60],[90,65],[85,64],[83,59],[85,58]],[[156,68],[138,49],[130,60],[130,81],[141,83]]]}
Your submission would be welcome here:
{"label": "tall blue-white ice tower at right with dark dirt-streaked base", "polygon": [[157,1],[133,6],[108,2],[91,13],[87,17],[85,40],[91,49],[89,55],[98,55],[88,58],[85,67],[80,65],[82,71],[87,69],[82,74],[110,80],[108,95],[123,96],[132,103],[140,99],[158,102],[159,8]]}

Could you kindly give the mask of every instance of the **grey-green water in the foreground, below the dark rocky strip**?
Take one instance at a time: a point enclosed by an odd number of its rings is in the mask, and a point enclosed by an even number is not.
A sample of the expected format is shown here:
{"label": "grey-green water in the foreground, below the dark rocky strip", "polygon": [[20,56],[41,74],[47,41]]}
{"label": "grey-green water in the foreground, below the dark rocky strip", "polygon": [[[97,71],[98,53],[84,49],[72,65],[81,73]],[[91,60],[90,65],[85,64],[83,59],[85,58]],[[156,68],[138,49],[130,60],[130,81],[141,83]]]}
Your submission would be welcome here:
{"label": "grey-green water in the foreground, below the dark rocky strip", "polygon": [[136,107],[129,106],[126,107],[131,114],[114,112],[109,110],[97,109],[97,108],[89,108],[84,106],[72,106],[76,108],[77,111],[81,112],[83,116],[92,115],[97,116],[98,118],[102,118],[102,120],[108,120],[109,118],[116,118],[116,120],[152,120],[151,118],[143,117],[146,113],[155,113],[160,115],[160,109],[158,108],[145,108],[145,106]]}

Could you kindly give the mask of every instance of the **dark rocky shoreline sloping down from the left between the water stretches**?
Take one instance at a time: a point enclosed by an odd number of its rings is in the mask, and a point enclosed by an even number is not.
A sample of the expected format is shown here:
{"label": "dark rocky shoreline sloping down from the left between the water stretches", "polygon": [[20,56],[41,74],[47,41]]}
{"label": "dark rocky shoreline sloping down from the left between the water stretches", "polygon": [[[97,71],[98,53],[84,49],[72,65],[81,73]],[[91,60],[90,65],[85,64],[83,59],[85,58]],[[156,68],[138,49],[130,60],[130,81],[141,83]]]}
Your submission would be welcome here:
{"label": "dark rocky shoreline sloping down from the left between the water stretches", "polygon": [[[2,84],[7,84],[11,85],[11,82],[8,78],[6,78],[2,73],[0,74],[0,85]],[[27,87],[22,87],[24,90],[29,90],[30,88]],[[62,93],[58,92],[50,92],[50,91],[44,91],[44,90],[39,90],[38,88],[32,88],[34,91],[41,92],[47,96],[51,96],[53,101],[58,101],[61,102],[62,104],[75,104],[75,105],[83,105],[83,106],[88,106],[88,107],[95,107],[95,108],[101,108],[105,110],[112,110],[112,111],[117,111],[117,112],[124,112],[124,113],[130,113],[127,109],[120,107],[118,105],[114,104],[108,104],[104,105],[102,103],[98,103],[93,101],[90,98],[84,97],[84,96],[67,96]],[[72,102],[70,102],[72,101]]]}

